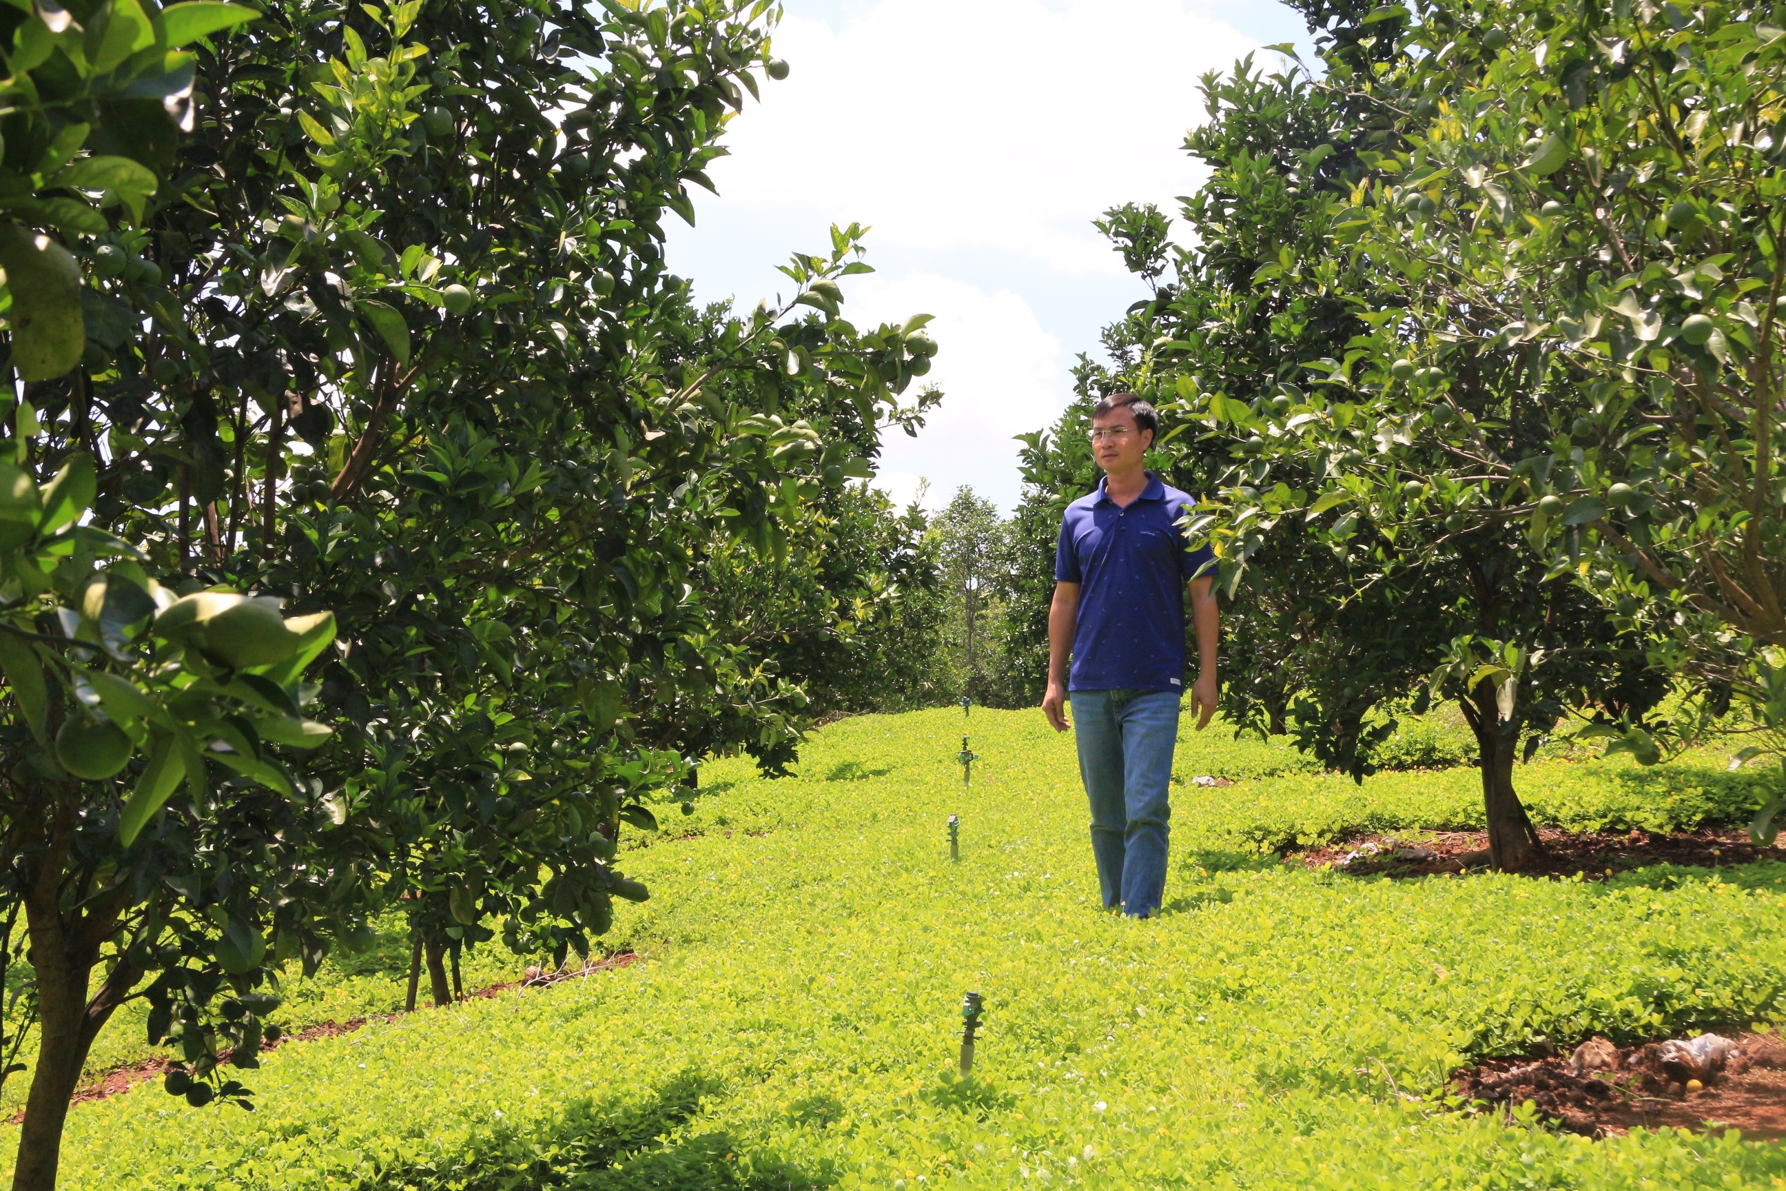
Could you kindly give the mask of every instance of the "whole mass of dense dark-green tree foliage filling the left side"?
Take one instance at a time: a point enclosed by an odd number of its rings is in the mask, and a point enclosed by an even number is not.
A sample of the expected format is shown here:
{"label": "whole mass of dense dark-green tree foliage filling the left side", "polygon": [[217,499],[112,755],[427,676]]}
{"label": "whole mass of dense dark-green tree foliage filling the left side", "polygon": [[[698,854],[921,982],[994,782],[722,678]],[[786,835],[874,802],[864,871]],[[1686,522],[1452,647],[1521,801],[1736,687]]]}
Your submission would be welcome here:
{"label": "whole mass of dense dark-green tree foliage filling the left side", "polygon": [[[855,227],[789,261],[786,307],[738,318],[663,262],[725,116],[786,71],[775,18],[0,7],[29,382],[0,477],[4,887],[36,907],[55,1009],[16,1186],[54,1184],[123,1000],[182,1045],[170,1091],[239,1100],[218,1062],[254,1066],[271,971],[363,943],[380,907],[411,916],[436,1000],[498,916],[516,950],[582,954],[614,898],[647,896],[614,864],[622,823],[654,825],[647,791],[714,748],[780,764],[811,721],[800,680],[875,664],[839,643],[927,580],[909,527],[848,484],[934,400],[900,404],[925,320],[841,318]],[[882,541],[820,550],[852,516]],[[797,559],[832,600],[734,616],[711,577],[747,555]]]}

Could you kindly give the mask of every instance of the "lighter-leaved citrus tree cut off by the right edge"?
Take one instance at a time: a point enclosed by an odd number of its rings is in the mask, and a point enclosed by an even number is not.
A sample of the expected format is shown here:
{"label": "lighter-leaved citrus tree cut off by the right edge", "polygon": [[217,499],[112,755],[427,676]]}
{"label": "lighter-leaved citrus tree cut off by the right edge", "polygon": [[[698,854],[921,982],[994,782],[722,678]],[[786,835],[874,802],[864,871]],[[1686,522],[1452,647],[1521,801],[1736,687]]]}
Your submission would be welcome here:
{"label": "lighter-leaved citrus tree cut off by the right edge", "polygon": [[[1786,761],[1777,9],[1461,4],[1407,36],[1386,102],[1445,102],[1413,130],[1398,184],[1348,221],[1406,277],[1406,316],[1370,359],[1522,355],[1548,445],[1482,468],[1507,516],[1698,684],[1700,727],[1734,693],[1759,736],[1743,759]],[[1456,39],[1481,50],[1445,66],[1425,54]],[[1647,727],[1661,725],[1620,725],[1615,746],[1661,755],[1670,734]]]}

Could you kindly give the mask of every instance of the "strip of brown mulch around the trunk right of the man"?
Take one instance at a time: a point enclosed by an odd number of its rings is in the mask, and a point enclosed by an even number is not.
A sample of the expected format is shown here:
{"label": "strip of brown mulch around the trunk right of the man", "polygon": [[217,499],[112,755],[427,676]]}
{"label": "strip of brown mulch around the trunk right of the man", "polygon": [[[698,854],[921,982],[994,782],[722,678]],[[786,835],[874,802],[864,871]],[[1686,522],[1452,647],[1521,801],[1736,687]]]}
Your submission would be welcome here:
{"label": "strip of brown mulch around the trunk right of the man", "polygon": [[[1786,837],[1772,848],[1756,846],[1740,827],[1707,827],[1697,832],[1652,834],[1538,830],[1543,854],[1523,871],[1532,877],[1604,880],[1611,873],[1652,864],[1718,868],[1754,861],[1786,861]],[[1423,855],[1431,854],[1431,855]],[[1350,857],[1350,859],[1348,859]],[[1340,843],[1291,852],[1286,864],[1332,868],[1357,875],[1432,877],[1488,868],[1484,832],[1398,832],[1352,836]]]}

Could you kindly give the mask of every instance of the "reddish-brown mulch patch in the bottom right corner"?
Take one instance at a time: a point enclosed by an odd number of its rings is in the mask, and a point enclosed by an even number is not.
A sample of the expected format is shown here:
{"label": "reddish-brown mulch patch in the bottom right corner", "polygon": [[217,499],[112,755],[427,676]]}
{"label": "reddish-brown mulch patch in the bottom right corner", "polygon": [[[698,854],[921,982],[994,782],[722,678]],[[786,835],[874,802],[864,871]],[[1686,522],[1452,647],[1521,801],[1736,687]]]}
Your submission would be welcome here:
{"label": "reddish-brown mulch patch in the bottom right corner", "polygon": [[1568,1055],[1490,1059],[1452,1077],[1468,1102],[1507,1112],[1531,1102],[1559,1129],[1611,1137],[1632,1129],[1740,1129],[1750,1141],[1786,1139],[1786,1045],[1734,1034],[1741,1057],[1702,1091],[1686,1091],[1659,1062],[1659,1043],[1616,1050],[1616,1066],[1572,1075]]}

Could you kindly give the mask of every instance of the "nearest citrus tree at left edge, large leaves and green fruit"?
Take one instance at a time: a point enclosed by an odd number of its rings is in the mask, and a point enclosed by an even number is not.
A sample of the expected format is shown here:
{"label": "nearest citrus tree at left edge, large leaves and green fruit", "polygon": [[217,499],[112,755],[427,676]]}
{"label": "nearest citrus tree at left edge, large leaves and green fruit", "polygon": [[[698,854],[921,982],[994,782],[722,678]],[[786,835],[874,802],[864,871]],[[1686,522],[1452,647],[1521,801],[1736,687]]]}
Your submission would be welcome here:
{"label": "nearest citrus tree at left edge, large leaves and green fruit", "polygon": [[305,718],[302,677],[334,618],[157,579],[139,545],[104,529],[100,430],[61,398],[100,321],[68,243],[145,216],[161,182],[118,150],[145,130],[170,139],[191,109],[191,46],[252,16],[129,0],[0,9],[13,48],[0,266],[21,384],[7,386],[0,439],[13,712],[0,730],[0,902],[9,959],[21,952],[30,971],[14,1030],[36,1029],[18,1187],[55,1184],[70,1096],[121,1004],[146,998],[150,1032],[177,1046],[170,1087],[195,1104],[243,1100],[220,1057],[252,1068],[277,1036],[266,961],[363,930],[368,904],[361,857],[313,846],[325,820],[291,766],[293,750],[330,734]]}

